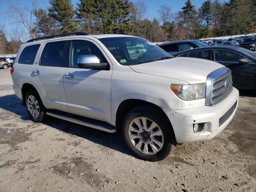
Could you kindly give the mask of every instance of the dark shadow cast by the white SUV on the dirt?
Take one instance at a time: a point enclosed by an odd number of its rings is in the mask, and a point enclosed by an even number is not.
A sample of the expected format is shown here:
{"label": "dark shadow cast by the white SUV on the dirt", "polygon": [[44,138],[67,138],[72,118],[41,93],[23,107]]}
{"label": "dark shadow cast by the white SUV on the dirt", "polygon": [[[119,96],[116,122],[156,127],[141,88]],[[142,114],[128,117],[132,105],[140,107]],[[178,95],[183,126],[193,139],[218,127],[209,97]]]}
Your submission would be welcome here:
{"label": "dark shadow cast by the white SUV on the dirt", "polygon": [[[7,111],[0,112],[0,120],[9,120],[12,118],[12,116],[14,116],[13,118],[20,118],[24,121],[30,120],[30,116],[28,115],[25,106],[22,104],[21,100],[16,97],[15,94],[0,96],[0,108]],[[10,112],[12,114],[10,114]],[[62,132],[84,138],[96,144],[100,144],[112,150],[134,156],[132,152],[128,150],[126,144],[122,138],[120,138],[121,135],[118,133],[108,133],[101,130],[96,130],[94,128],[81,126],[54,117],[49,117],[48,120],[43,122],[43,124],[58,129]],[[69,141],[67,140],[66,142],[68,144]]]}

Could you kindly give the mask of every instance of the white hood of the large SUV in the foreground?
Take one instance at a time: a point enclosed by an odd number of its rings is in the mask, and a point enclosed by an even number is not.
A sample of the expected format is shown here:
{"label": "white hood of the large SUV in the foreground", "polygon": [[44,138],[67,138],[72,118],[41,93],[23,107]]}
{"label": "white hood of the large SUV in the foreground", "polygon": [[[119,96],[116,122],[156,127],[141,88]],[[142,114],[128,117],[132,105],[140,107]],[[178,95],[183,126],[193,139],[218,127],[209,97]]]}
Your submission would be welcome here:
{"label": "white hood of the large SUV in the foreground", "polygon": [[130,66],[132,70],[138,73],[174,78],[189,84],[206,82],[208,74],[222,67],[224,66],[210,60],[187,57]]}

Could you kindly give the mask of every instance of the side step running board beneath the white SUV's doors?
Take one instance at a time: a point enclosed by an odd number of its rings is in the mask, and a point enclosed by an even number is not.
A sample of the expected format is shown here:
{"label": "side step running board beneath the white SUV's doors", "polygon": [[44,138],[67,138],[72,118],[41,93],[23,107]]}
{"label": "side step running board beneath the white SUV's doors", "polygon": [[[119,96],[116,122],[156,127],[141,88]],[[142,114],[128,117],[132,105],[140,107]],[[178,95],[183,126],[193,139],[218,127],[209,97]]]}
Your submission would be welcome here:
{"label": "side step running board beneath the white SUV's doors", "polygon": [[106,122],[103,122],[103,121],[98,121],[98,120],[94,120],[94,119],[90,119],[90,118],[86,118],[86,117],[82,117],[79,115],[74,115],[74,114],[70,114],[70,113],[66,113],[66,112],[62,112],[62,111],[58,111],[58,110],[48,110],[46,112],[46,114],[49,116],[59,118],[59,119],[70,121],[72,123],[84,125],[87,127],[106,131],[109,133],[116,132],[116,128],[114,126],[112,126]]}

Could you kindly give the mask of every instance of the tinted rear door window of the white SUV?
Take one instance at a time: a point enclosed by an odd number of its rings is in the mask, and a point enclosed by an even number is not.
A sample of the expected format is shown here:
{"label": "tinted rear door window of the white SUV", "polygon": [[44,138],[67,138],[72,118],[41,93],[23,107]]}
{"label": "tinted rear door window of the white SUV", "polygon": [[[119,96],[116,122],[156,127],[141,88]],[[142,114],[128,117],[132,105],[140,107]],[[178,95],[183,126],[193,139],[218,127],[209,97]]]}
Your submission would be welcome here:
{"label": "tinted rear door window of the white SUV", "polygon": [[46,44],[41,57],[41,65],[62,67],[64,65],[64,45],[64,41]]}

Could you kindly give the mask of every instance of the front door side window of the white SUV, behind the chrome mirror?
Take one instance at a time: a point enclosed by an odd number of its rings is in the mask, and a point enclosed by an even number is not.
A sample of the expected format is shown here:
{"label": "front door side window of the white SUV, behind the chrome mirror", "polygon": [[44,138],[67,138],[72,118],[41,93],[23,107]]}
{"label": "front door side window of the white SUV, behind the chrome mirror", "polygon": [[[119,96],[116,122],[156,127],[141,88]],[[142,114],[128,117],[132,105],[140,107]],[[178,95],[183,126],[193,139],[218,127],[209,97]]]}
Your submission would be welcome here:
{"label": "front door side window of the white SUV, behind the chrome mirror", "polygon": [[77,59],[81,55],[95,55],[100,62],[106,62],[106,58],[103,56],[102,52],[92,42],[82,40],[72,41],[69,66],[77,68]]}

